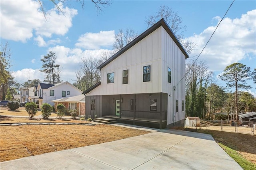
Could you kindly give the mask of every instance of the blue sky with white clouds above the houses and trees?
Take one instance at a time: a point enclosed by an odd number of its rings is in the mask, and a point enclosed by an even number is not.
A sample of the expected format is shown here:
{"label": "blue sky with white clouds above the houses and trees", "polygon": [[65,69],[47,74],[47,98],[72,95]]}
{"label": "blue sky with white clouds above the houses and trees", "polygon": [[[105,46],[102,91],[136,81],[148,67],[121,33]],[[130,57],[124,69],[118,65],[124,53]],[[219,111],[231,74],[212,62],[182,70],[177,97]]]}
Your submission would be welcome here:
{"label": "blue sky with white clouds above the houses and trees", "polygon": [[[44,79],[40,58],[56,52],[56,63],[63,66],[61,79],[73,83],[82,57],[99,57],[112,50],[113,36],[119,29],[132,28],[139,34],[147,29],[146,17],[166,5],[182,18],[186,25],[184,39],[197,44],[190,56],[198,55],[220,18],[232,1],[112,1],[98,13],[91,1],[84,9],[79,3],[63,4],[65,16],[56,12],[53,4],[44,0],[45,20],[38,1],[1,0],[1,43],[9,43],[12,51],[10,71],[23,83],[29,79]],[[240,62],[256,68],[256,1],[236,0],[220,24],[204,53],[199,57],[214,71],[218,80],[226,66]],[[250,93],[256,96],[255,84]]]}

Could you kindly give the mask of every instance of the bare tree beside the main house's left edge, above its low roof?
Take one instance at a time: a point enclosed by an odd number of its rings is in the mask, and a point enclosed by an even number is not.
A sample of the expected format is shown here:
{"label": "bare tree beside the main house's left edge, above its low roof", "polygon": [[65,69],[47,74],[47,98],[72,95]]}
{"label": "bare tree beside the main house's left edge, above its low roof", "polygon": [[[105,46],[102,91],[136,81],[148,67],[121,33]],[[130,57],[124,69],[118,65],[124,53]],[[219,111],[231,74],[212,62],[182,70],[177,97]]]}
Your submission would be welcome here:
{"label": "bare tree beside the main house's left edge, above its low roof", "polygon": [[100,70],[97,69],[99,60],[93,57],[82,58],[80,68],[84,73],[85,90],[100,81]]}

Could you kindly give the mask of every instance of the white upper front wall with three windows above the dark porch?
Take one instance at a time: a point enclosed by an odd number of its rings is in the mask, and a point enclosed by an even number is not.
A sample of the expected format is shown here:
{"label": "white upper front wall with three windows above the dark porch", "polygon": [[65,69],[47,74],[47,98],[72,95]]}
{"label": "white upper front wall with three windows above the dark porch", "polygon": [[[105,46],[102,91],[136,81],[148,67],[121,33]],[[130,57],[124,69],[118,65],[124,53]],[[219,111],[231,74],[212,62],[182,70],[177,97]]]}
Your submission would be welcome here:
{"label": "white upper front wall with three windows above the dark porch", "polygon": [[[102,84],[86,95],[158,93],[162,91],[161,29],[118,56],[101,70]],[[143,82],[143,67],[150,65],[151,79]],[[122,71],[129,70],[128,84],[122,84]],[[107,74],[114,72],[114,83],[107,84]]]}

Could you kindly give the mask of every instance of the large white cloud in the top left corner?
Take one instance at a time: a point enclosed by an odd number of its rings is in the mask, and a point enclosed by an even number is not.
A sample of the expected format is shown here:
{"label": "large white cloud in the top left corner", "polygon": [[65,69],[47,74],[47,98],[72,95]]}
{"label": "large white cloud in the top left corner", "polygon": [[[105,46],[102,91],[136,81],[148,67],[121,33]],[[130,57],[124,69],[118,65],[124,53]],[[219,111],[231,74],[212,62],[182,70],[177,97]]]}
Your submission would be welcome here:
{"label": "large white cloud in the top left corner", "polygon": [[66,34],[72,26],[72,18],[78,14],[75,9],[60,6],[65,16],[61,12],[58,13],[55,7],[46,10],[46,18],[44,18],[40,4],[34,0],[3,0],[0,1],[0,5],[1,38],[26,42],[35,32],[37,38],[34,40],[41,46],[45,45],[42,41],[43,36]]}

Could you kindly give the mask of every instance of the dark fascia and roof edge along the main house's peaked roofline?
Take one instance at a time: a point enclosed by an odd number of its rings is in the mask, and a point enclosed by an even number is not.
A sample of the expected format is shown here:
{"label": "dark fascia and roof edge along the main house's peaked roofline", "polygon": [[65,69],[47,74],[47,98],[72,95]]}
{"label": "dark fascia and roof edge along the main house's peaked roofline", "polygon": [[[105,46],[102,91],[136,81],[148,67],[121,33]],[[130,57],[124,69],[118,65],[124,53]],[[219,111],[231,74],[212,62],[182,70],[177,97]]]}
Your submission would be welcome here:
{"label": "dark fascia and roof edge along the main house's peaked roofline", "polygon": [[146,36],[148,36],[149,34],[151,34],[152,32],[154,32],[156,29],[158,29],[160,26],[163,26],[163,28],[166,30],[166,32],[169,34],[169,36],[172,38],[172,40],[174,40],[174,42],[176,43],[176,45],[178,45],[178,47],[180,48],[180,50],[182,51],[182,53],[185,55],[186,59],[188,58],[188,53],[186,52],[186,50],[183,48],[183,46],[181,45],[180,41],[178,40],[178,38],[174,35],[174,33],[172,32],[172,30],[170,29],[170,27],[168,26],[168,24],[165,22],[164,19],[161,19],[160,21],[158,21],[156,24],[154,24],[152,27],[150,27],[148,30],[146,30],[145,32],[143,32],[142,34],[140,34],[140,36],[138,36],[137,38],[135,38],[132,42],[128,43],[126,46],[124,46],[122,49],[120,49],[120,51],[118,51],[117,53],[115,53],[112,57],[110,57],[107,61],[105,61],[104,63],[102,63],[98,69],[102,69],[103,67],[105,67],[106,65],[108,65],[111,61],[113,61],[114,59],[116,59],[118,56],[120,56],[122,53],[124,53],[125,51],[127,51],[128,49],[130,49],[133,45],[135,45],[136,43],[140,42],[143,38],[145,38]]}

